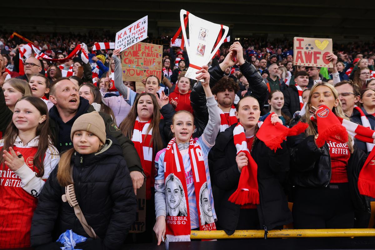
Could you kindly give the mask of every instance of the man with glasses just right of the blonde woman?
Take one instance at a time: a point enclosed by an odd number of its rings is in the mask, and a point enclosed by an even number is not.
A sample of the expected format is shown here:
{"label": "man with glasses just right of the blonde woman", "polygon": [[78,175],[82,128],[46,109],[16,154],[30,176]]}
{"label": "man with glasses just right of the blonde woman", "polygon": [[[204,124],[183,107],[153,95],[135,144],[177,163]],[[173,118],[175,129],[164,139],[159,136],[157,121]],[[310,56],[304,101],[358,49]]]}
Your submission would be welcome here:
{"label": "man with glasses just right of the blonde woman", "polygon": [[[342,111],[345,115],[350,118],[351,121],[362,125],[361,114],[359,111],[354,109],[354,105],[359,102],[360,90],[359,86],[354,84],[352,81],[341,81],[335,85],[337,92],[339,93],[339,99],[342,106]],[[366,143],[355,140],[358,148],[367,152]]]}

